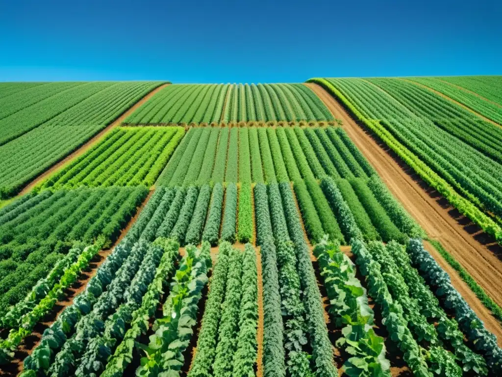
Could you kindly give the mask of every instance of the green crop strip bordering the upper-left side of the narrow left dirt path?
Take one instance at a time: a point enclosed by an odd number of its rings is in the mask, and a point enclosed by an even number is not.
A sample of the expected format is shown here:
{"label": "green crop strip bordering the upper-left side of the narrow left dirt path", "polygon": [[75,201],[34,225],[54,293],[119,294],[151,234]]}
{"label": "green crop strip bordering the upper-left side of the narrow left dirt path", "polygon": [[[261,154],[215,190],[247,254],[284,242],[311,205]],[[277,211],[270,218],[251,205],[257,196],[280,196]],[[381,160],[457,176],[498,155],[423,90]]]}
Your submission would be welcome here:
{"label": "green crop strip bordering the upper-left side of the narrow left dirt path", "polygon": [[[92,96],[66,111],[52,114],[51,119],[44,119],[38,127],[0,146],[0,199],[17,194],[30,180],[80,147],[160,84],[119,82],[105,85]],[[32,117],[33,114],[29,119]],[[9,124],[3,129],[16,125]]]}

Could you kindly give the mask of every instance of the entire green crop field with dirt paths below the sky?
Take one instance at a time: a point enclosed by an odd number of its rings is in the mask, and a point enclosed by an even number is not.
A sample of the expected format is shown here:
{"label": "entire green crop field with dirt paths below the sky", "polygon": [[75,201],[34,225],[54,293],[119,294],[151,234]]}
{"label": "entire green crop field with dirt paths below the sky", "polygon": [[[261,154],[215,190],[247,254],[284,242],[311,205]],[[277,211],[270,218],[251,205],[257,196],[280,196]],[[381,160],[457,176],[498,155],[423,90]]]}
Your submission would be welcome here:
{"label": "entire green crop field with dirt paths below the sky", "polygon": [[0,375],[502,375],[501,81],[0,83]]}

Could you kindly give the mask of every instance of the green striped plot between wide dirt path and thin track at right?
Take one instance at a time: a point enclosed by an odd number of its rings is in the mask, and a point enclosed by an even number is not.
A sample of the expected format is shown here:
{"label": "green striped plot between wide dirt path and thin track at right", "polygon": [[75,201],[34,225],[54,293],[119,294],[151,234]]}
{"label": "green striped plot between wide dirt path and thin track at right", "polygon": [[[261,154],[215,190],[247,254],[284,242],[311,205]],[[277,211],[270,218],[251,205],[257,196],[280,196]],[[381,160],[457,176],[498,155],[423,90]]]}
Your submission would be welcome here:
{"label": "green striped plot between wide dirt path and thin track at right", "polygon": [[[444,110],[437,110],[433,104],[428,109],[423,103],[419,105],[419,101],[425,101],[431,94],[435,96],[434,93],[424,94],[422,91],[427,89],[413,83],[402,83],[402,80],[372,79],[375,84],[360,79],[315,81],[340,98],[368,128],[462,214],[498,242],[502,240],[502,228],[499,225],[502,197],[498,179],[502,169],[497,154],[490,152],[493,146],[487,136],[491,132],[488,128],[483,130],[477,127],[476,136],[463,133],[457,137],[455,133],[462,133],[462,125],[472,124],[472,119],[431,121],[428,118],[431,115],[428,114],[438,112],[440,115]],[[392,96],[376,85],[389,90]],[[410,88],[410,93],[405,95],[403,87]],[[420,100],[421,96],[424,99]],[[454,106],[438,96],[436,98],[439,107]],[[449,127],[450,123],[453,133],[441,127]],[[475,143],[480,145],[479,150],[472,146]]]}

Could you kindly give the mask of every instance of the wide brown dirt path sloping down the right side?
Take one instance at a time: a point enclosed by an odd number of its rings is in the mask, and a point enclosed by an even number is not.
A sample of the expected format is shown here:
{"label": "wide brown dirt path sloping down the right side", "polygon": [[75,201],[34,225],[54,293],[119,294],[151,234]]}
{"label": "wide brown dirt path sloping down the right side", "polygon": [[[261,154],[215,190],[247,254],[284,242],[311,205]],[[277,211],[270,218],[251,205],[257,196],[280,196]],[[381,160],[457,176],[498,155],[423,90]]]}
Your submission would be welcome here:
{"label": "wide brown dirt path sloping down the right side", "polygon": [[[342,128],[350,139],[429,237],[440,241],[485,292],[498,305],[502,305],[502,262],[494,255],[499,250],[496,243],[484,239],[484,234],[479,233],[469,219],[461,216],[437,192],[413,175],[409,167],[393,155],[386,145],[380,145],[368,131],[358,126],[321,86],[313,83],[306,85],[314,90],[335,118],[343,121]],[[438,263],[446,264],[438,253],[433,253],[433,256]],[[458,286],[461,278],[451,268],[448,272],[454,287],[461,291],[462,287]],[[465,299],[483,322],[497,323],[485,310],[479,310],[484,306],[473,293]],[[502,336],[499,325],[492,331],[499,338]]]}

